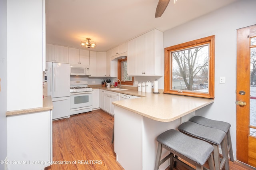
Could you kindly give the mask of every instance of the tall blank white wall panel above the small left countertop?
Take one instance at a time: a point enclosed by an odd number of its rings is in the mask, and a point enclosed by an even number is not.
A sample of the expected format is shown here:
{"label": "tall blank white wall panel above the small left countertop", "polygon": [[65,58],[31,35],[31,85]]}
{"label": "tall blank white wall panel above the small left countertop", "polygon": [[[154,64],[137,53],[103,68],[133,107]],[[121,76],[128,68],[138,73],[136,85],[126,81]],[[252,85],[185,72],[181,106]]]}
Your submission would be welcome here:
{"label": "tall blank white wall panel above the small left countertop", "polygon": [[7,111],[42,107],[42,4],[7,1]]}

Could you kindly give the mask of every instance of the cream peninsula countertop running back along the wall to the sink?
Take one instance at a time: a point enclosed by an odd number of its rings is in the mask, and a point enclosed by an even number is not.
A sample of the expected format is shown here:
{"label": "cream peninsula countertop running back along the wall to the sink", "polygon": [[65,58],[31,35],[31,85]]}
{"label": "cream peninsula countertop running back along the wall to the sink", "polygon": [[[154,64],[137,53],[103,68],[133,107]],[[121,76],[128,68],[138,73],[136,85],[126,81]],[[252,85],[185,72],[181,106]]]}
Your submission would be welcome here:
{"label": "cream peninsula countertop running back along the wall to the sink", "polygon": [[130,89],[123,91],[104,87],[100,89],[140,96],[141,98],[114,101],[112,104],[160,122],[174,121],[214,102],[213,99],[163,93],[153,94]]}

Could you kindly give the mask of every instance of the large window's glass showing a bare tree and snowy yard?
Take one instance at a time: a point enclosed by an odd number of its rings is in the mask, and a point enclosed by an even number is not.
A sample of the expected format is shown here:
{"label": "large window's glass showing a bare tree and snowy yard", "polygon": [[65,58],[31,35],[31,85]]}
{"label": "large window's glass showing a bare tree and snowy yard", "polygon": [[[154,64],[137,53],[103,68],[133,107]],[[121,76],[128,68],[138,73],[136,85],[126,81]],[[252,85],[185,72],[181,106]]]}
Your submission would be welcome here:
{"label": "large window's glass showing a bare tree and snowy yard", "polygon": [[172,89],[208,93],[209,45],[173,51],[171,56]]}

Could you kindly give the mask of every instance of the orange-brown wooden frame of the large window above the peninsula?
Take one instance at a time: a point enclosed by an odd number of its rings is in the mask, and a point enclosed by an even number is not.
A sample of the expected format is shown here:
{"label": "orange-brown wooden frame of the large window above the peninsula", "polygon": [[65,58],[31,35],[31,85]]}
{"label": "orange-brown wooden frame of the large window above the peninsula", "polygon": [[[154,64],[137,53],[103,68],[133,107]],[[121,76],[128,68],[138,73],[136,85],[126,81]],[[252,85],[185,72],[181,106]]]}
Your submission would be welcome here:
{"label": "orange-brown wooden frame of the large window above the peninsula", "polygon": [[[192,91],[182,91],[182,93],[178,92],[177,90],[170,89],[171,82],[170,79],[172,77],[171,72],[171,65],[170,65],[170,52],[180,50],[180,49],[186,49],[198,45],[208,44],[209,43],[209,79],[208,79],[208,93],[198,93],[198,92],[192,92]],[[198,40],[174,45],[171,47],[166,47],[164,49],[164,93],[167,94],[174,94],[174,95],[185,95],[185,96],[193,96],[193,97],[203,97],[203,98],[209,98],[214,99],[214,66],[215,66],[215,35],[214,36],[208,36],[205,38],[201,38]]]}

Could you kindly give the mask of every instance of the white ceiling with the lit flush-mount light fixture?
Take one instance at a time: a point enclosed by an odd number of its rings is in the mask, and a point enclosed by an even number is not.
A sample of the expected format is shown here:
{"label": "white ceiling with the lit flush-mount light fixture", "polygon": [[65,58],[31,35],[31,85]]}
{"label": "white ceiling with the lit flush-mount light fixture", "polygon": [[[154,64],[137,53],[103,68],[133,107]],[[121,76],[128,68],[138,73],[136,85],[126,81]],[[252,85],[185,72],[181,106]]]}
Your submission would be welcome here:
{"label": "white ceiling with the lit flush-mount light fixture", "polygon": [[158,0],[46,0],[46,42],[80,47],[91,38],[107,51],[154,28],[162,32],[237,0],[170,0],[155,18]]}

